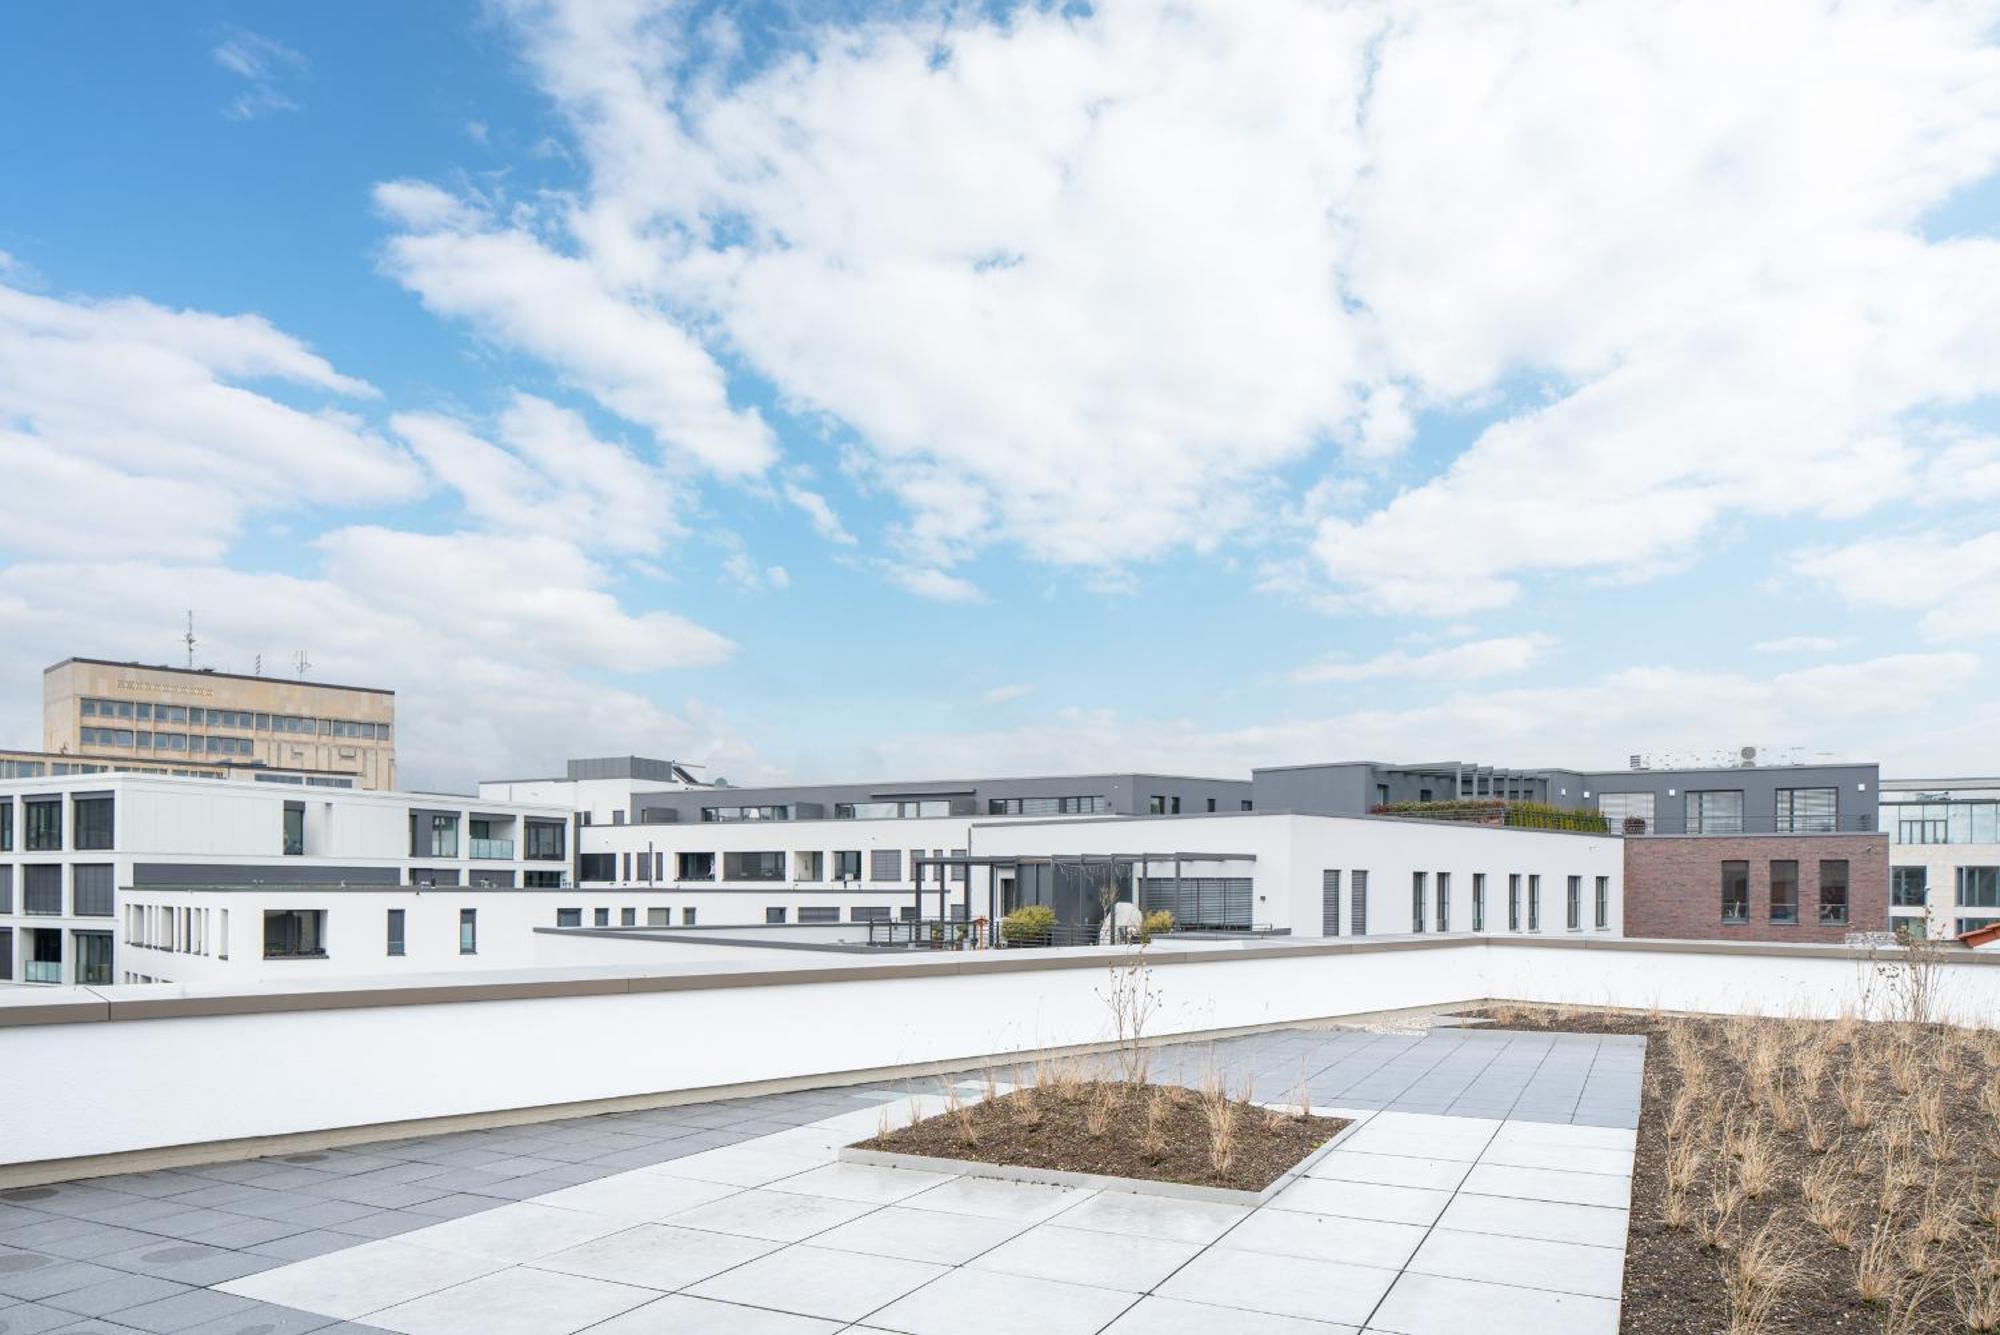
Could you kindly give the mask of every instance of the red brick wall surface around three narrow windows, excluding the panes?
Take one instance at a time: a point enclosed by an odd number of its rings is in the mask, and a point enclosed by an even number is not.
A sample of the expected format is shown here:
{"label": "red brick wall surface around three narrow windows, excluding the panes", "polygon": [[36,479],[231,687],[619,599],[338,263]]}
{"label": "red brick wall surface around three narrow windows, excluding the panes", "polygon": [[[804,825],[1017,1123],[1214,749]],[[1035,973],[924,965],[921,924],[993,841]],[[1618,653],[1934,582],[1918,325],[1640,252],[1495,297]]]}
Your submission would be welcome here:
{"label": "red brick wall surface around three narrow windows, excluding the panes", "polygon": [[[1888,837],[1830,835],[1644,835],[1626,841],[1628,937],[1716,941],[1842,941],[1850,931],[1888,931]],[[1798,863],[1798,923],[1770,921],[1770,863]],[[1820,861],[1848,863],[1848,921],[1820,925]],[[1722,921],[1722,863],[1750,863],[1750,921]]]}

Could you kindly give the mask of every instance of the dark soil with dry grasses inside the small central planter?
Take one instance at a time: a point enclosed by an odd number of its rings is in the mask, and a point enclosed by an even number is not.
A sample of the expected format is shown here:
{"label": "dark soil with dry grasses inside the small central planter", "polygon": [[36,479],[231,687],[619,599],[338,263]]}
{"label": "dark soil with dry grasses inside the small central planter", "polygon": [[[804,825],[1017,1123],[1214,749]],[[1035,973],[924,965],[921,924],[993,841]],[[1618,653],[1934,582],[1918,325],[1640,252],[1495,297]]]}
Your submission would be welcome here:
{"label": "dark soil with dry grasses inside the small central planter", "polygon": [[970,1099],[958,1113],[926,1117],[860,1141],[856,1149],[1262,1191],[1348,1125],[1344,1117],[1292,1117],[1240,1099],[1224,1103],[1234,1135],[1220,1167],[1204,1095],[1178,1085],[1122,1081],[1024,1087],[996,1099]]}

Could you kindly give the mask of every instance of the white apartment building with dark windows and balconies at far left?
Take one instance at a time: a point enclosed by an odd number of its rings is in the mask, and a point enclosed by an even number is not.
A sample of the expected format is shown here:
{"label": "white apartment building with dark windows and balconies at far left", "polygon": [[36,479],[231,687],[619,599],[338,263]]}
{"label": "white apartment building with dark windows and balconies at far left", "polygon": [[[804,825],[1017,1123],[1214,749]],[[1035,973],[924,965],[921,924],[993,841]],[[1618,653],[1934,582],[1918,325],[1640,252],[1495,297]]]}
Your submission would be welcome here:
{"label": "white apartment building with dark windows and balconies at far left", "polygon": [[[0,783],[0,981],[186,981],[318,959],[372,887],[558,889],[570,811],[436,793],[96,773]],[[262,907],[308,889],[316,905]]]}

